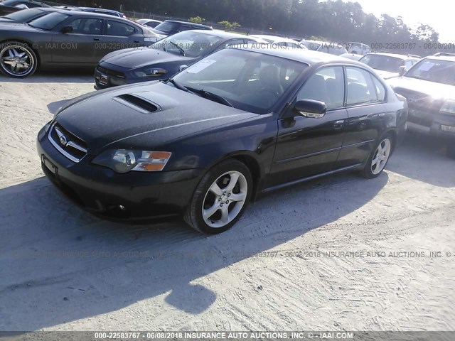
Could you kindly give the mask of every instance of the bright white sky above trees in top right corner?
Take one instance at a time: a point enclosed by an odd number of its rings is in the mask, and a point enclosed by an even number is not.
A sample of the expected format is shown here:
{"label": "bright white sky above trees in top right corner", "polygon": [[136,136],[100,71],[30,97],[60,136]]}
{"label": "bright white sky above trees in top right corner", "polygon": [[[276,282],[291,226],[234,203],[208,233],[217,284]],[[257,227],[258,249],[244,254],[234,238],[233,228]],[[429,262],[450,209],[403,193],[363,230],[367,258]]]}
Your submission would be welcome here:
{"label": "bright white sky above trees in top right corner", "polygon": [[365,13],[378,18],[382,13],[402,16],[407,26],[425,23],[439,33],[440,43],[455,43],[455,1],[453,0],[343,0],[358,2]]}

